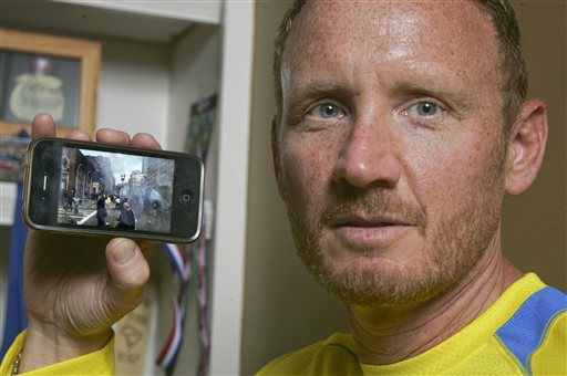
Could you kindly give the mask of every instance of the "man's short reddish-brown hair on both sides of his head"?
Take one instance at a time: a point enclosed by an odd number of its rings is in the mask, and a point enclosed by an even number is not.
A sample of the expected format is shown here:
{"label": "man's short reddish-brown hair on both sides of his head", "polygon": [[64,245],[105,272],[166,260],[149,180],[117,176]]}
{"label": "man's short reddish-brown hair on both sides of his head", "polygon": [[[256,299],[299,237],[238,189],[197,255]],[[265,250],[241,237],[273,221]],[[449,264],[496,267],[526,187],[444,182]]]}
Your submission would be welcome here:
{"label": "man's short reddish-brown hair on both sides of his head", "polygon": [[[522,54],[519,28],[516,21],[514,8],[508,0],[472,0],[484,13],[486,13],[496,31],[499,42],[499,71],[502,74],[503,117],[506,126],[511,126],[516,119],[522,103],[526,98],[527,73],[524,55]],[[278,114],[282,111],[281,87],[281,59],[289,32],[306,4],[307,0],[295,0],[287,11],[275,40],[274,52],[274,80],[276,104]]]}

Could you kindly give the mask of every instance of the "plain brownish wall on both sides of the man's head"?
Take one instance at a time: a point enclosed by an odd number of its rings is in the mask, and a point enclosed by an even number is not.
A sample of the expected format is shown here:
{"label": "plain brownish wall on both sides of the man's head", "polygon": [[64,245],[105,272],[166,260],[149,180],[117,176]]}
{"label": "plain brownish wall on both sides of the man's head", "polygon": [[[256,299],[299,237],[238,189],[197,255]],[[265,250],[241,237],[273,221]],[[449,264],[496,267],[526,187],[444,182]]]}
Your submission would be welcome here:
{"label": "plain brownish wall on both sides of the man's head", "polygon": [[[259,1],[256,7],[243,374],[347,330],[341,305],[317,285],[295,255],[274,179],[269,149],[275,112],[272,38],[289,3]],[[566,289],[566,3],[515,6],[525,30],[529,94],[548,102],[550,139],[537,184],[506,207],[504,248],[523,270],[535,270],[548,283]]]}

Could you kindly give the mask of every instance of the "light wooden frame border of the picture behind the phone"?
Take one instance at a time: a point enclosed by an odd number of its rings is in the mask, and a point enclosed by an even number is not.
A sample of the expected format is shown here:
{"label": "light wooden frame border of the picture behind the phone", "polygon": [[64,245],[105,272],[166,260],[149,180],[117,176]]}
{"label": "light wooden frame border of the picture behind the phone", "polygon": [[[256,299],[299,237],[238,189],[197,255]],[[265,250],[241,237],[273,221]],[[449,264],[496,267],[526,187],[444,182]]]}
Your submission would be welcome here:
{"label": "light wooden frame border of the picture behind the phone", "polygon": [[[101,43],[0,28],[0,50],[9,53],[44,55],[54,60],[78,60],[80,73],[76,91],[79,98],[74,100],[78,102],[78,108],[73,108],[76,124],[58,127],[58,136],[64,136],[73,129],[81,129],[90,135],[94,134]],[[7,93],[2,93],[0,96],[4,97],[4,94]],[[0,118],[0,136],[13,135],[23,128],[31,132],[30,123]]]}

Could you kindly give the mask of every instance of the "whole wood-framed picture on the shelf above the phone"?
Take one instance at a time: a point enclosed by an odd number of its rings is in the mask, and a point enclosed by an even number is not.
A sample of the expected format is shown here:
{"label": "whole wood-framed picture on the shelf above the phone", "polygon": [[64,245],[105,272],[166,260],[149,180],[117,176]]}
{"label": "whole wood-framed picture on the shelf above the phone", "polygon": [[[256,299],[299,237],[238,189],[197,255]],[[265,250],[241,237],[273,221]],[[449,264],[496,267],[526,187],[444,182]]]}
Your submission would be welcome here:
{"label": "whole wood-framed picture on the shelf above the phone", "polygon": [[0,136],[49,113],[58,135],[94,133],[101,43],[0,28]]}

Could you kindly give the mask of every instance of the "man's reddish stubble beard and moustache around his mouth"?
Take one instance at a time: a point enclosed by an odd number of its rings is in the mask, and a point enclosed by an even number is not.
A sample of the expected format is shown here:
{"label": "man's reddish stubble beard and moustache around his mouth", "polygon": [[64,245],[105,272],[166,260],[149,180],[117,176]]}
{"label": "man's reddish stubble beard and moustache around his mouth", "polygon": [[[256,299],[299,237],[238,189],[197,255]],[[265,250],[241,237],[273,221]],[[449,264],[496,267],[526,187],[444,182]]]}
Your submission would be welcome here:
{"label": "man's reddish stubble beard and moustache around his mouth", "polygon": [[[504,152],[495,152],[492,165],[477,179],[464,205],[427,227],[425,213],[396,199],[391,192],[350,195],[329,205],[317,223],[306,223],[305,208],[288,202],[288,217],[297,252],[316,280],[342,302],[359,306],[402,306],[432,300],[471,273],[493,248],[502,218]],[[456,192],[455,192],[456,194]],[[416,224],[421,236],[431,239],[415,249],[419,264],[385,268],[378,260],[338,265],[321,248],[329,218],[340,212],[398,213]],[[369,254],[372,253],[369,250]]]}

